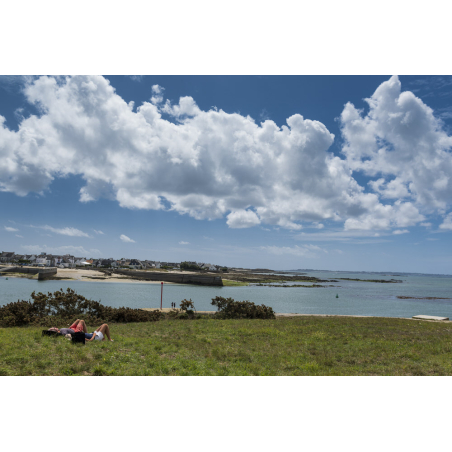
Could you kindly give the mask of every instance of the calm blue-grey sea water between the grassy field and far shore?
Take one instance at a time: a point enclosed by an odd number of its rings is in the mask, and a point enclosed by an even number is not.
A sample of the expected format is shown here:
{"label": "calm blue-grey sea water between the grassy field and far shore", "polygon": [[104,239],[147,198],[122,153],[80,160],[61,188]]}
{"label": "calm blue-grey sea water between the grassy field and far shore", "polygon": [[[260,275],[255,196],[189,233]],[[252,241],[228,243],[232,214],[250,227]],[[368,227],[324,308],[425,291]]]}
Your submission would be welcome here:
{"label": "calm blue-grey sea water between the grassy field and far shore", "polygon": [[[398,279],[402,283],[381,284],[358,281],[339,281],[326,288],[272,288],[272,287],[202,287],[165,284],[163,307],[171,302],[179,304],[192,299],[198,310],[215,310],[211,299],[217,295],[235,300],[249,300],[271,306],[276,312],[300,314],[344,314],[386,317],[438,315],[452,319],[452,276],[406,273],[351,273],[304,271],[303,274],[321,279],[360,278]],[[296,283],[301,284],[301,283]],[[94,281],[36,281],[0,277],[0,306],[30,299],[36,292],[54,292],[60,288],[76,292],[103,304],[132,308],[160,307],[160,284],[108,283]],[[336,294],[339,298],[336,298]],[[443,297],[449,300],[401,300],[397,295],[415,297]]]}

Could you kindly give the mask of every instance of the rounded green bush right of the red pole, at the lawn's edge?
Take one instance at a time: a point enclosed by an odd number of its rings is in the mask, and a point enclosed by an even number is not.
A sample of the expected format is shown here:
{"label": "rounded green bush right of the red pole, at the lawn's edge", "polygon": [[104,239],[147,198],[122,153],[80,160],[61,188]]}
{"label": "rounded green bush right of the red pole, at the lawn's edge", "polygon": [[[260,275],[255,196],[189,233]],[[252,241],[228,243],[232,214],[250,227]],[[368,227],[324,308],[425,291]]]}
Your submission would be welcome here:
{"label": "rounded green bush right of the red pole, at the lawn's edge", "polygon": [[256,305],[251,301],[235,301],[233,298],[212,298],[213,306],[218,308],[216,317],[222,319],[274,319],[272,308],[263,304]]}

